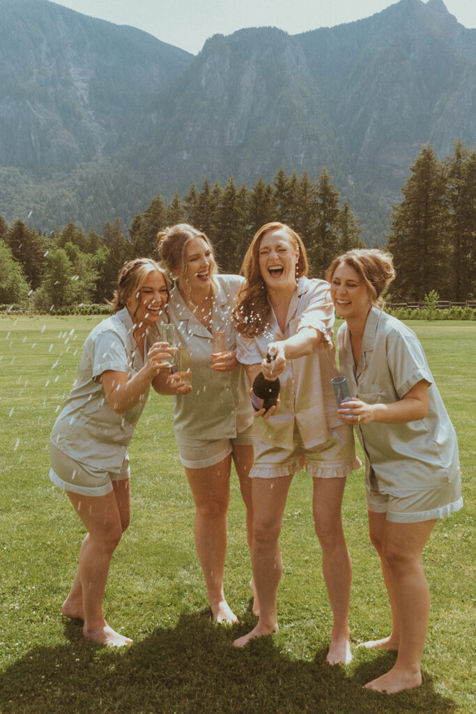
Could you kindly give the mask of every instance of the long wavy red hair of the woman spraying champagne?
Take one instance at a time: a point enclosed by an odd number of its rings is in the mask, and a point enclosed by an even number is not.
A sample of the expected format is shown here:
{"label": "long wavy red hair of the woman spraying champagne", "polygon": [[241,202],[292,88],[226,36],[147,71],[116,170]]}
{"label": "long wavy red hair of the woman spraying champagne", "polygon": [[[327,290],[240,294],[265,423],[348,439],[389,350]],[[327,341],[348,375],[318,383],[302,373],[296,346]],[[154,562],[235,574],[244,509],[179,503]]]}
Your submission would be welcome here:
{"label": "long wavy red hair of the woman spraying champagne", "polygon": [[271,306],[268,302],[268,291],[265,281],[260,271],[260,244],[267,233],[284,230],[293,243],[294,248],[299,249],[298,264],[296,267],[296,278],[305,276],[308,273],[308,258],[306,256],[303,241],[293,228],[285,223],[265,223],[256,231],[253,241],[250,243],[248,251],[243,258],[241,274],[245,276],[245,283],[240,290],[239,303],[233,310],[236,331],[245,337],[255,337],[263,334],[266,324],[269,321]]}

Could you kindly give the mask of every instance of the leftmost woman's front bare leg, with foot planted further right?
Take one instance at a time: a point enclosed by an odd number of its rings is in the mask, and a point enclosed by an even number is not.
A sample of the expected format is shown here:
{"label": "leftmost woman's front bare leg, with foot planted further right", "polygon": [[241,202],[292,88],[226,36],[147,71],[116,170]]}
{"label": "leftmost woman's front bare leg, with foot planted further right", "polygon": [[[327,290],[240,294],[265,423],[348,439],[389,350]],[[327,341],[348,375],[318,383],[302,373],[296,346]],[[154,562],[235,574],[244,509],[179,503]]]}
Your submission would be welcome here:
{"label": "leftmost woman's front bare leg, with foot planted further right", "polygon": [[[124,507],[129,502],[129,481],[127,479],[126,483],[120,483],[123,493],[119,497],[119,503]],[[109,565],[113,552],[121,540],[122,524],[125,522],[121,519],[116,488],[107,496],[80,496],[78,493],[69,492],[67,496],[88,530],[88,536],[81,545],[79,560],[79,582],[84,615],[83,635],[105,645],[127,645],[132,640],[110,628],[102,611]],[[125,519],[128,522],[128,515]],[[77,583],[76,578],[74,585],[75,583]]]}

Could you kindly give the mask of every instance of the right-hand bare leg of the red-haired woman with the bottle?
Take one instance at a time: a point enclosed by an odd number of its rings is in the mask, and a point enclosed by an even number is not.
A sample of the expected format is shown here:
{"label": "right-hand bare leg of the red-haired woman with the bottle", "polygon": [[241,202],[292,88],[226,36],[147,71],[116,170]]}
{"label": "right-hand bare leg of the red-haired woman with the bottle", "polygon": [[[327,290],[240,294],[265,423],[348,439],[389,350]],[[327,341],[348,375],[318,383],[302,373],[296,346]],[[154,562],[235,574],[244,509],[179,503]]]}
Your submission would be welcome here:
{"label": "right-hand bare leg of the red-haired woman with the bottle", "polygon": [[331,665],[349,664],[349,605],[352,564],[345,543],[340,510],[345,478],[313,478],[315,532],[323,549],[323,574],[328,589],[334,624],[327,661]]}

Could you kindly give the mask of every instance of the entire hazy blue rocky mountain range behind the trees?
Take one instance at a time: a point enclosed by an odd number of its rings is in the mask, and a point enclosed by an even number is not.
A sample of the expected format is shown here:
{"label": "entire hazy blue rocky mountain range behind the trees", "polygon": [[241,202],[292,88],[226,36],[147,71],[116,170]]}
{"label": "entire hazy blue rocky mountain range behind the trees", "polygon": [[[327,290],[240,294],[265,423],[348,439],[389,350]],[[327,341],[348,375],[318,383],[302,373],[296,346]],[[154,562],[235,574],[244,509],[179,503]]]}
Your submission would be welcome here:
{"label": "entire hazy blue rocky mountain range behind the trees", "polygon": [[326,166],[368,241],[423,144],[476,136],[476,30],[442,0],[290,36],[252,28],[194,57],[47,0],[0,0],[0,215],[100,228],[191,183]]}

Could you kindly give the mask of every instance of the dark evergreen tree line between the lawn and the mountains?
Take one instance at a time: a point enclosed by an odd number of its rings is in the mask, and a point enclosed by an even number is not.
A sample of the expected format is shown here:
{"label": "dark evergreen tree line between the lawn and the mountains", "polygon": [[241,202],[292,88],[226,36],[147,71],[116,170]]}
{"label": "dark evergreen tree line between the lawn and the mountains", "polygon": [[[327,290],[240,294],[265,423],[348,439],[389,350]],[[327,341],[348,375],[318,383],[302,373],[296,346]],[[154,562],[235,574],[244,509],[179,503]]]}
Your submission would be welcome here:
{"label": "dark evergreen tree line between the lawn and the mountains", "polygon": [[[397,279],[393,300],[422,300],[431,290],[462,301],[475,293],[476,154],[457,141],[453,156],[440,161],[423,147],[395,206],[387,248]],[[203,181],[166,203],[160,193],[131,222],[128,237],[118,219],[102,235],[69,223],[49,235],[0,216],[0,303],[49,309],[111,299],[118,272],[136,256],[156,257],[159,230],[187,222],[204,231],[224,272],[237,273],[253,234],[269,221],[297,231],[308,251],[310,273],[323,277],[339,253],[363,247],[360,225],[340,200],[326,169],[312,180],[280,169],[271,183],[252,189]]]}

